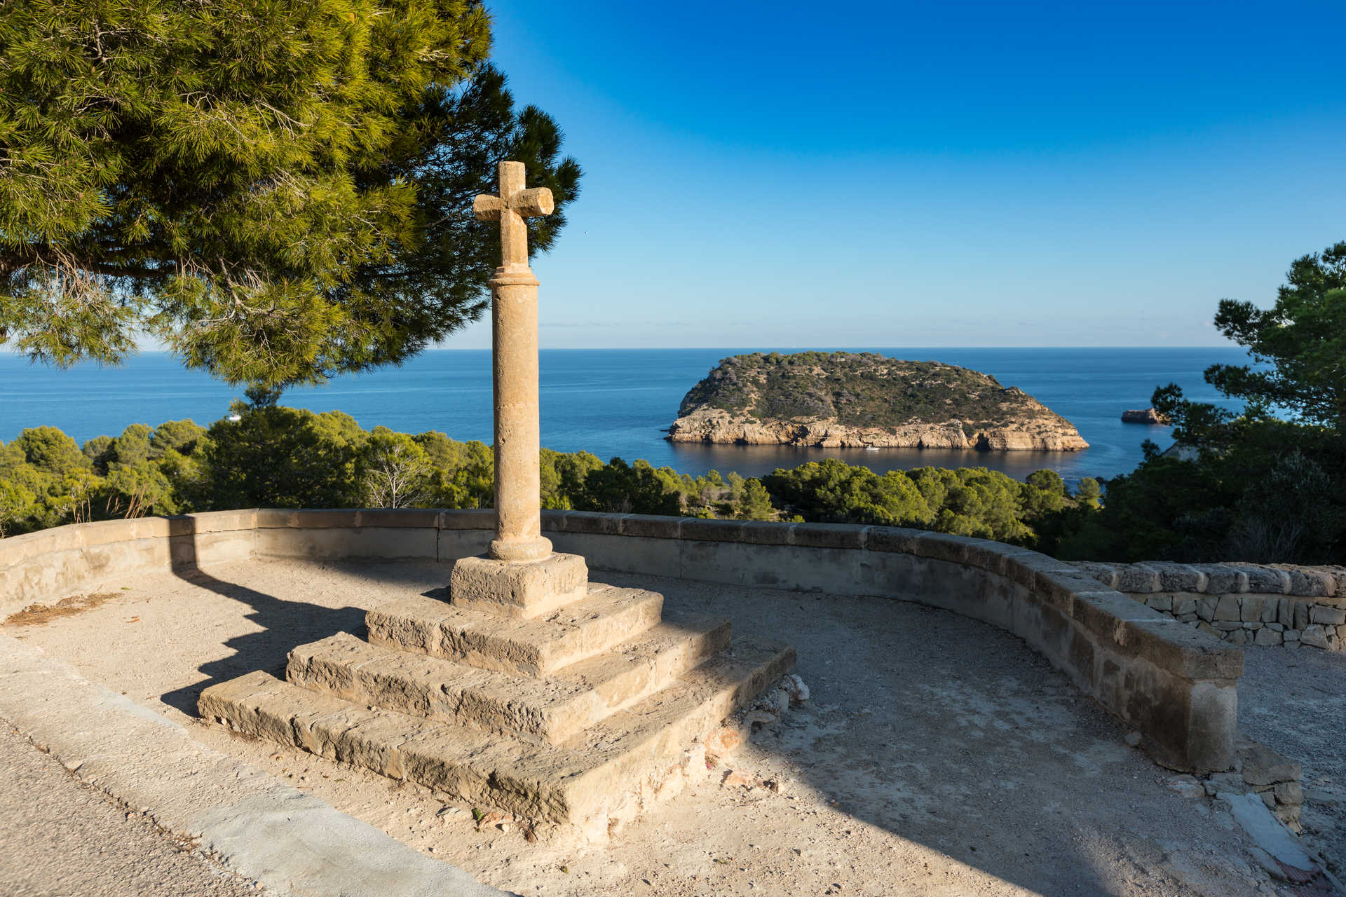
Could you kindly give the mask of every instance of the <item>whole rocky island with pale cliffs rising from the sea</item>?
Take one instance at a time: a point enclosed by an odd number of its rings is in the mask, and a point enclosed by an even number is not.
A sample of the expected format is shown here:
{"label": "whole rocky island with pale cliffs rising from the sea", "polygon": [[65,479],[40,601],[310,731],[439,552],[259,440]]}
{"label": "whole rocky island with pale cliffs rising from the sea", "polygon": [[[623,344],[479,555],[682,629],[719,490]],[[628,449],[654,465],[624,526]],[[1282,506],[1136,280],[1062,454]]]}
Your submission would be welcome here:
{"label": "whole rocky island with pale cliffs rising from the sea", "polygon": [[1066,418],[966,367],[875,352],[725,358],[682,398],[674,442],[1073,452]]}

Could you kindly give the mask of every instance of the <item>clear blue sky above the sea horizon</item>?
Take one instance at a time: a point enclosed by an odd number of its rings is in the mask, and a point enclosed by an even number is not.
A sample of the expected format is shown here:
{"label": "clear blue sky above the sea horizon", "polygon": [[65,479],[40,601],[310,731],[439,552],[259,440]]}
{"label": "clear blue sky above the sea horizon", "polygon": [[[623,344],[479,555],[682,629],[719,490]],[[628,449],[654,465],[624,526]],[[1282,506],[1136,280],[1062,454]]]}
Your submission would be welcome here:
{"label": "clear blue sky above the sea horizon", "polygon": [[491,11],[587,172],[546,348],[1218,344],[1346,239],[1341,0]]}

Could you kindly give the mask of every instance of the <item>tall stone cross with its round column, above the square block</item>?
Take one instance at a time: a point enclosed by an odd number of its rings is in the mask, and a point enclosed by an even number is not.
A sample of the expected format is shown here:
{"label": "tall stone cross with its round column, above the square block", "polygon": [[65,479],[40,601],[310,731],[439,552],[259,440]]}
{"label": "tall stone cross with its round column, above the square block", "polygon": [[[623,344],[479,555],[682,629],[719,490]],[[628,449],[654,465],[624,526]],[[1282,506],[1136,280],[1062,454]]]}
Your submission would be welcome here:
{"label": "tall stone cross with its round column, above the square block", "polygon": [[478,221],[501,223],[502,264],[491,277],[491,375],[495,395],[495,539],[498,561],[541,561],[552,554],[542,537],[538,481],[537,278],[528,266],[524,218],[551,215],[546,187],[524,188],[524,163],[499,164],[499,196],[472,200]]}

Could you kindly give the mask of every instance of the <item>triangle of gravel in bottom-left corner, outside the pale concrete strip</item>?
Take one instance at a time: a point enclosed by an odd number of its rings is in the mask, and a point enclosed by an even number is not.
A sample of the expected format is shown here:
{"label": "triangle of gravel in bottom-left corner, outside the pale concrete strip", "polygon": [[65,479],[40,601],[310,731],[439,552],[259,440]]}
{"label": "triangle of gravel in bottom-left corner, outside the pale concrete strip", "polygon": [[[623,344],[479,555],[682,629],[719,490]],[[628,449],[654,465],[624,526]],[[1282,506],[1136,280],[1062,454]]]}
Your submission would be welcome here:
{"label": "triangle of gravel in bottom-left corner, outside the pale concrete strip", "polygon": [[0,893],[256,897],[188,842],[128,814],[0,719]]}

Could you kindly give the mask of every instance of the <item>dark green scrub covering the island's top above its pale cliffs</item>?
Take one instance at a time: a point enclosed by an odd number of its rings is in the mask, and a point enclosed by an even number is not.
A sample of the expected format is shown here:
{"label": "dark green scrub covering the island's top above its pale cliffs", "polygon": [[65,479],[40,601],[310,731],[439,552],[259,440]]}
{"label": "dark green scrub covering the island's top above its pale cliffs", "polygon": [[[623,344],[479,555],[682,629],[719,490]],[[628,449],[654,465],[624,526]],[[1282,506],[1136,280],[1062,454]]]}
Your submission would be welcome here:
{"label": "dark green scrub covering the island's top above its pale cliffs", "polygon": [[968,434],[1003,425],[1007,407],[1051,414],[989,374],[876,352],[732,355],[692,387],[678,416],[700,407],[758,420],[836,420],[857,428],[958,420]]}

